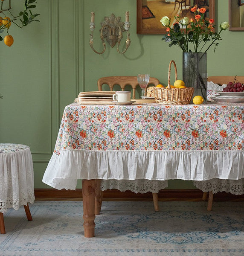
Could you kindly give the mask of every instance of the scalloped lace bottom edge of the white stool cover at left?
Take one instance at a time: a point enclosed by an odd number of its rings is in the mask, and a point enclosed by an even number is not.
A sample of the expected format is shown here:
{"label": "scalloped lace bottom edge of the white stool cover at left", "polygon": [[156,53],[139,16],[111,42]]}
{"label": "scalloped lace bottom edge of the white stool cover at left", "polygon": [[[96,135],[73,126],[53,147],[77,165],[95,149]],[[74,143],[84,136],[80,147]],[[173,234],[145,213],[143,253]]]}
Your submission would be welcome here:
{"label": "scalloped lace bottom edge of the white stool cover at left", "polygon": [[28,195],[22,194],[17,197],[11,197],[4,200],[0,198],[0,212],[6,212],[8,208],[14,208],[18,210],[20,206],[27,205],[27,203],[33,204],[35,201],[34,193],[30,193]]}

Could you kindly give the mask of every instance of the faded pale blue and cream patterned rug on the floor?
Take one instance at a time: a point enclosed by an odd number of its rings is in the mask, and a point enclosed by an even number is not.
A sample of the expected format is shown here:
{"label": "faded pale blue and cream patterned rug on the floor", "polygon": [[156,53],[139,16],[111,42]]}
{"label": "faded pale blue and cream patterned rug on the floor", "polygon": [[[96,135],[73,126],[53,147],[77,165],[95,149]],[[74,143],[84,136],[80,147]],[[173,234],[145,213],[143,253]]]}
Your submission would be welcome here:
{"label": "faded pale blue and cream patterned rug on the floor", "polygon": [[107,202],[84,238],[82,202],[37,201],[4,215],[1,256],[243,256],[244,202]]}

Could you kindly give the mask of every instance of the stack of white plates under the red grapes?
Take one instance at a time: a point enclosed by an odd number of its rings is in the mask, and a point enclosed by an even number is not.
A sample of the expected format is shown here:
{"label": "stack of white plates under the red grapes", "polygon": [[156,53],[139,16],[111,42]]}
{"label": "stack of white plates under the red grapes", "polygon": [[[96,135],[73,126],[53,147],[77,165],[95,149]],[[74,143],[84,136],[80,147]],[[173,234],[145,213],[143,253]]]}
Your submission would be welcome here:
{"label": "stack of white plates under the red grapes", "polygon": [[224,93],[221,91],[216,91],[216,95],[211,97],[215,102],[223,103],[243,103],[244,102],[244,92],[239,93]]}

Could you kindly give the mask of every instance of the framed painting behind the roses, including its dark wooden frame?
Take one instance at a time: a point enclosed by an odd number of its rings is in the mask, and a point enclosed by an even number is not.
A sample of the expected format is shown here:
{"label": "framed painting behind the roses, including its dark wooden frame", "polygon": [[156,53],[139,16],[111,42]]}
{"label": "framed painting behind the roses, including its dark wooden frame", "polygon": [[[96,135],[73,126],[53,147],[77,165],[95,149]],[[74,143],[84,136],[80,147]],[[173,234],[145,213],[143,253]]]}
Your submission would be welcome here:
{"label": "framed painting behind the roses, including its dark wooden frame", "polygon": [[163,16],[194,18],[191,8],[206,8],[206,19],[215,18],[215,0],[137,0],[137,34],[166,34],[160,20]]}

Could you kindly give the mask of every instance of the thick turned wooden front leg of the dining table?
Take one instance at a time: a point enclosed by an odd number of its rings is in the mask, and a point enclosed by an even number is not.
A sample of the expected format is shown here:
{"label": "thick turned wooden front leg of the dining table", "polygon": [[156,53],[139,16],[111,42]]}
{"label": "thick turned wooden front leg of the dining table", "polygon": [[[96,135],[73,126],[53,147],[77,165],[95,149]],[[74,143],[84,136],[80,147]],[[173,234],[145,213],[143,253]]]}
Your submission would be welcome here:
{"label": "thick turned wooden front leg of the dining table", "polygon": [[82,180],[84,236],[95,236],[95,192],[96,180]]}

